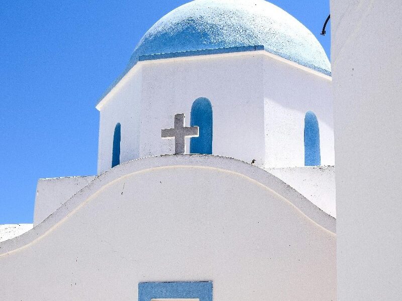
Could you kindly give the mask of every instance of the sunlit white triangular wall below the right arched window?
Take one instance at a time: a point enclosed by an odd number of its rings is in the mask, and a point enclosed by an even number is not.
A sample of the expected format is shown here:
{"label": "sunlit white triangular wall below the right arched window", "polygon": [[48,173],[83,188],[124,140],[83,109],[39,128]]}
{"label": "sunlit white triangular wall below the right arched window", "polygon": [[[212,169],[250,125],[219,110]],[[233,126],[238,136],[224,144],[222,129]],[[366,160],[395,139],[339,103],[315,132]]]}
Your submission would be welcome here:
{"label": "sunlit white triangular wall below the right arched window", "polygon": [[318,208],[336,218],[335,167],[308,166],[293,168],[265,168],[311,201]]}

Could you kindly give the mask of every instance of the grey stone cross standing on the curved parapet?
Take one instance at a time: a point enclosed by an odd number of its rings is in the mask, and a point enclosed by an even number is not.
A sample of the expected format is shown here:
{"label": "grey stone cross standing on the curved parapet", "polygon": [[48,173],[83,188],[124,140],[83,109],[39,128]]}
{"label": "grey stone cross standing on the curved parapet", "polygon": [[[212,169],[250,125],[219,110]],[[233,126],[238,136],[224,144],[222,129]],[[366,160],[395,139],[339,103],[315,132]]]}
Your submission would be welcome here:
{"label": "grey stone cross standing on the curved parapet", "polygon": [[185,153],[185,138],[198,137],[198,126],[185,127],[184,114],[174,115],[174,128],[162,129],[162,139],[174,139],[174,154]]}

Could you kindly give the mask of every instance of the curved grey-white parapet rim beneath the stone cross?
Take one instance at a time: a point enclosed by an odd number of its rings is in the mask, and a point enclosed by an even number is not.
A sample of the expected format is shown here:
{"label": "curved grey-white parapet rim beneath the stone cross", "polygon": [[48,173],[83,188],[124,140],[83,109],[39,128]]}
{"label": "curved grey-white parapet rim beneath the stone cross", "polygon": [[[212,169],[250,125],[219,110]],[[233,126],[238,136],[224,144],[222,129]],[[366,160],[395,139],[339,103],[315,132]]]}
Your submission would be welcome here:
{"label": "curved grey-white parapet rim beneath the stone cross", "polygon": [[32,230],[21,236],[0,242],[0,256],[29,246],[36,240],[41,239],[54,227],[57,227],[59,223],[68,219],[87,202],[90,202],[88,200],[92,195],[110,183],[141,171],[179,166],[218,169],[248,178],[263,185],[266,189],[282,198],[284,202],[289,202],[319,227],[331,233],[336,233],[335,218],[322,211],[282,180],[263,169],[237,159],[213,155],[164,155],[129,161],[100,174]]}

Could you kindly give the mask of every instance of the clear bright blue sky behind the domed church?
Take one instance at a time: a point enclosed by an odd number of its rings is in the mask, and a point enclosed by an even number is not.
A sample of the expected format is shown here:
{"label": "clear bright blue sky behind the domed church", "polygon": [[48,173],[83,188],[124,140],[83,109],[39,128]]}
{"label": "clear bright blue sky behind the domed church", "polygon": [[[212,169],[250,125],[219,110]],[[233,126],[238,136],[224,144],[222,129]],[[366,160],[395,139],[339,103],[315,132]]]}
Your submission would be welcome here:
{"label": "clear bright blue sky behind the domed church", "polygon": [[[142,35],[187,2],[0,0],[0,224],[32,223],[39,178],[96,174],[99,96]],[[271,2],[329,56],[329,0]]]}

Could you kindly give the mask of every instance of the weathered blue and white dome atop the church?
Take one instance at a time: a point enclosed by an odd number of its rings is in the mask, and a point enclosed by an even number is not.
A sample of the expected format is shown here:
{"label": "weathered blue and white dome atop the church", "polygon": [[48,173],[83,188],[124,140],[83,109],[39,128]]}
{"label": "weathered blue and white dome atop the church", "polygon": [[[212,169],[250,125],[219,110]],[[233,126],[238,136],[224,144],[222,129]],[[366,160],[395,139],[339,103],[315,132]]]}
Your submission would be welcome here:
{"label": "weathered blue and white dome atop the church", "polygon": [[316,37],[265,0],[195,0],[182,5],[146,32],[127,70],[143,55],[243,46],[263,46],[287,60],[331,73],[328,57]]}

